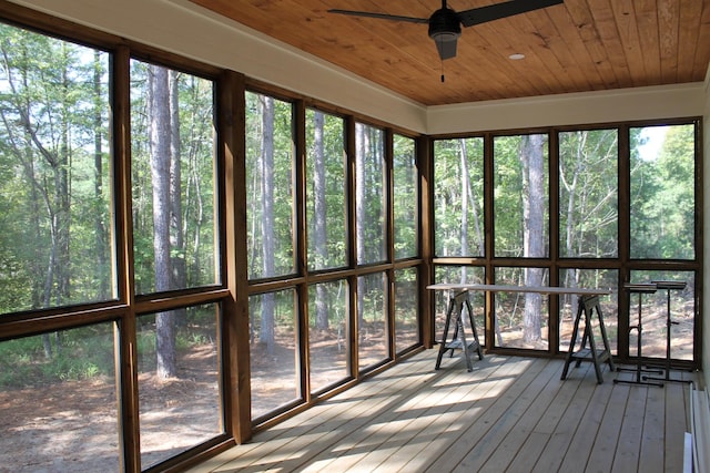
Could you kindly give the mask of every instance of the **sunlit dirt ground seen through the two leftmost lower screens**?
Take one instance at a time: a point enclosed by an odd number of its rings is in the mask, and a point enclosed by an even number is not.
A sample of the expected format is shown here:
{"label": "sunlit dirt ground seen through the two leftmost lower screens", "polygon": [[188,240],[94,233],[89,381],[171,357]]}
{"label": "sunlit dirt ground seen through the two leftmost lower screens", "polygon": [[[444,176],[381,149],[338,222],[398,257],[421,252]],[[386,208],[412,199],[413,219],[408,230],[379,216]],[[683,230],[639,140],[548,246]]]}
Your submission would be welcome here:
{"label": "sunlit dirt ground seen through the two leftmost lower screens", "polygon": [[[214,347],[183,358],[180,379],[139,377],[143,467],[219,433]],[[120,471],[113,380],[0,391],[0,472]]]}

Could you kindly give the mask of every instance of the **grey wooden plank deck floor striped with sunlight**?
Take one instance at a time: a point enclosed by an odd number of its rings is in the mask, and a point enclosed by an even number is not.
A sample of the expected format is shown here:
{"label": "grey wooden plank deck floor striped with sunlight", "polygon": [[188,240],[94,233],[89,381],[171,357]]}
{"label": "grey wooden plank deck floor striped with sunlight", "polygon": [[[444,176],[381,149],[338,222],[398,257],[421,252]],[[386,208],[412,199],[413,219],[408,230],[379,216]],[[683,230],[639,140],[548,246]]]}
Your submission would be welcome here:
{"label": "grey wooden plank deck floor striped with sunlight", "polygon": [[[689,384],[597,384],[591,363],[427,350],[195,472],[680,472]],[[673,372],[673,378],[693,377]]]}

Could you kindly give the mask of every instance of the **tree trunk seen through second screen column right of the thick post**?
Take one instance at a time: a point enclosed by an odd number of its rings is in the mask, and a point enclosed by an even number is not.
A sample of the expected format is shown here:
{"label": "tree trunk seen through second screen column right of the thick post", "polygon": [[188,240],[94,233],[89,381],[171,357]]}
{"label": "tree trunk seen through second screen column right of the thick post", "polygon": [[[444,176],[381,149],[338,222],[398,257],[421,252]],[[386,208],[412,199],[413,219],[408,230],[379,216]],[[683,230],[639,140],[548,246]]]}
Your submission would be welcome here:
{"label": "tree trunk seen through second screen column right of the thick post", "polygon": [[[327,263],[327,206],[325,198],[326,172],[325,172],[325,146],[323,143],[323,132],[325,117],[323,113],[315,112],[313,116],[314,125],[314,156],[313,156],[313,218],[315,219],[313,241],[317,267],[321,268]],[[328,329],[328,306],[327,290],[322,284],[315,287],[315,327],[318,330]]]}

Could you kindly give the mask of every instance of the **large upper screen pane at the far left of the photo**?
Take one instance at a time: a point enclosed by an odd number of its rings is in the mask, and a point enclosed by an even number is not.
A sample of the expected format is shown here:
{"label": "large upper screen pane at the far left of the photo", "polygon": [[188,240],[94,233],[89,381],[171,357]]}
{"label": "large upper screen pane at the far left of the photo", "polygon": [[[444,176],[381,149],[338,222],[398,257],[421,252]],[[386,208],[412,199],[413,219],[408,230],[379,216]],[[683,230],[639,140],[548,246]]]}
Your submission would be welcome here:
{"label": "large upper screen pane at the far left of the photo", "polygon": [[109,54],[0,24],[0,313],[118,296]]}

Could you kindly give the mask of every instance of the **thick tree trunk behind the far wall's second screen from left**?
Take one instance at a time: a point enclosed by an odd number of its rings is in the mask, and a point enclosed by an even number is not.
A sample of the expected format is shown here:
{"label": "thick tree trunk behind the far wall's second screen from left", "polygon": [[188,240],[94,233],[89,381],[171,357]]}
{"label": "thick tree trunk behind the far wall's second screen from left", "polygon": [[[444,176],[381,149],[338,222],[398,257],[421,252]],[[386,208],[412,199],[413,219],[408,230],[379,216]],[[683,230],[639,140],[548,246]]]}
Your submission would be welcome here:
{"label": "thick tree trunk behind the far wall's second screen from left", "polygon": [[[524,135],[521,137],[524,257],[535,258],[545,256],[545,160],[542,146],[542,135]],[[525,268],[525,285],[541,286],[544,275],[545,270],[542,268]],[[526,294],[523,332],[525,342],[536,342],[541,339],[541,295]]]}

